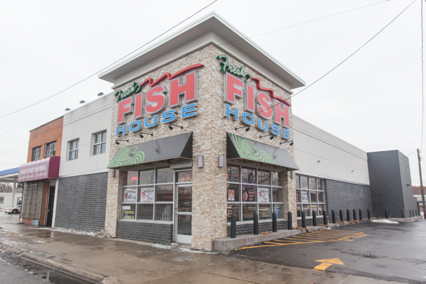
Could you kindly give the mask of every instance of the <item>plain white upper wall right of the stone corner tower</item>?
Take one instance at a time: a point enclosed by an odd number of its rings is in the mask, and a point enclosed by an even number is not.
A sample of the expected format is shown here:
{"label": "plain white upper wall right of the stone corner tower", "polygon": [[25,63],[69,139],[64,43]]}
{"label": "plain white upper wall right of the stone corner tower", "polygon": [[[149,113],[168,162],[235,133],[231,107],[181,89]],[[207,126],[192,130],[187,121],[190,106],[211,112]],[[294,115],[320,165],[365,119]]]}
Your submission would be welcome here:
{"label": "plain white upper wall right of the stone corner tower", "polygon": [[[296,173],[369,185],[367,153],[293,115]],[[318,163],[320,160],[320,163]]]}

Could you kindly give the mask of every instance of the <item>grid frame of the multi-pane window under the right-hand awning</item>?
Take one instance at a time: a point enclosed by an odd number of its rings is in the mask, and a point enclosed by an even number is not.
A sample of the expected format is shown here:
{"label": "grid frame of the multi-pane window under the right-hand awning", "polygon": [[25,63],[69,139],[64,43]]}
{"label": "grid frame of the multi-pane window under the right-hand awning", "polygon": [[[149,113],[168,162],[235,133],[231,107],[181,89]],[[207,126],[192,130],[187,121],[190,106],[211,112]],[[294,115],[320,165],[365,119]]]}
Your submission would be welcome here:
{"label": "grid frame of the multi-pane window under the right-hand awning", "polygon": [[[228,163],[226,165],[226,175],[228,175],[228,167],[236,167],[239,168],[239,182],[233,182],[231,181],[232,178],[235,178],[235,176],[231,175],[229,176],[229,180],[226,180],[226,215],[229,216],[229,209],[230,207],[233,207],[234,205],[239,205],[239,219],[236,220],[236,222],[238,224],[247,224],[247,223],[252,223],[253,219],[244,219],[244,205],[246,206],[250,206],[250,205],[254,205],[256,207],[256,213],[259,216],[259,222],[271,222],[272,221],[272,214],[274,212],[274,205],[280,205],[280,208],[283,210],[283,214],[281,214],[281,216],[283,216],[283,218],[278,217],[278,220],[285,220],[285,179],[284,179],[284,174],[285,171],[279,171],[279,170],[274,170],[271,168],[267,168],[267,167],[260,167],[260,166],[253,166],[253,165],[240,165],[238,163]],[[249,169],[249,170],[255,170],[255,182],[254,183],[250,183],[250,182],[244,182],[243,181],[243,168]],[[259,172],[269,172],[269,184],[265,185],[262,183],[259,183]],[[278,180],[280,180],[282,182],[282,185],[273,185],[273,172],[277,172],[278,173]],[[279,175],[281,175],[281,178],[279,179]],[[226,179],[228,178],[228,176],[226,176]],[[229,201],[229,187],[228,185],[239,185],[239,201]],[[253,202],[249,202],[243,201],[243,195],[244,195],[244,190],[243,187],[244,185],[246,186],[253,186],[255,188],[255,201]],[[258,197],[259,197],[259,188],[268,188],[269,191],[269,201],[268,202],[259,202]],[[283,201],[282,202],[274,202],[273,201],[273,192],[274,189],[278,189],[281,190],[282,192],[282,197],[283,197]],[[234,192],[234,199],[237,195]],[[259,214],[259,205],[269,205],[269,211],[271,212],[271,215],[269,218],[264,218],[261,219],[261,215]],[[228,224],[230,224],[230,220],[228,220]]]}

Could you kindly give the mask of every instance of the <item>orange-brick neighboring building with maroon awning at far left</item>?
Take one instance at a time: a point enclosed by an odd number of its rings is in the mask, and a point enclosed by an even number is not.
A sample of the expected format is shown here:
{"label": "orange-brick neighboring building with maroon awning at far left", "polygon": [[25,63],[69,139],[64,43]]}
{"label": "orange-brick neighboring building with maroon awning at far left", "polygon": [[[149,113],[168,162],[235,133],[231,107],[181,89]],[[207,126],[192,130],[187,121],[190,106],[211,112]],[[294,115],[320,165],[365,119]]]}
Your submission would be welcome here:
{"label": "orange-brick neighboring building with maroon awning at far left", "polygon": [[[58,186],[63,116],[30,131],[26,164],[19,167],[23,182],[21,222],[52,226]],[[35,223],[34,223],[35,224]]]}

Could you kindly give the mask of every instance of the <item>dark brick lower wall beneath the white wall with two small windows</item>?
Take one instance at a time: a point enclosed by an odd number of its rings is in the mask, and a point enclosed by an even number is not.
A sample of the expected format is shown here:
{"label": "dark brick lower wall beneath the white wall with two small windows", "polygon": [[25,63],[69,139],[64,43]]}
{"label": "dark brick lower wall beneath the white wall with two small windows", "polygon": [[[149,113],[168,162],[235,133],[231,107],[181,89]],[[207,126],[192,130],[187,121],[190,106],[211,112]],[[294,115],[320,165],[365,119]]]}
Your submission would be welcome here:
{"label": "dark brick lower wall beneath the white wall with two small windows", "polygon": [[108,173],[60,178],[55,226],[83,231],[105,227]]}

